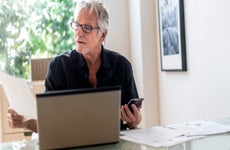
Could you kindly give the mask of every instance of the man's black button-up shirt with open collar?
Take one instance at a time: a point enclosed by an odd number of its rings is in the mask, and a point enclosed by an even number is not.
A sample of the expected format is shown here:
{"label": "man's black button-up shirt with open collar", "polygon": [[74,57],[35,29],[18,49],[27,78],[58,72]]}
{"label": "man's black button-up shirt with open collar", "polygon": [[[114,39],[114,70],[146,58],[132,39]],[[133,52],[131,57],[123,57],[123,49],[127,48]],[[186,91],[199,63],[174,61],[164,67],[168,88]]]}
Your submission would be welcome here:
{"label": "man's black button-up shirt with open collar", "polygon": [[[121,105],[127,104],[138,93],[130,62],[117,52],[101,51],[102,63],[97,72],[97,87],[120,86]],[[46,91],[91,88],[89,69],[85,59],[76,50],[55,57],[49,66]],[[122,126],[121,126],[122,129]]]}

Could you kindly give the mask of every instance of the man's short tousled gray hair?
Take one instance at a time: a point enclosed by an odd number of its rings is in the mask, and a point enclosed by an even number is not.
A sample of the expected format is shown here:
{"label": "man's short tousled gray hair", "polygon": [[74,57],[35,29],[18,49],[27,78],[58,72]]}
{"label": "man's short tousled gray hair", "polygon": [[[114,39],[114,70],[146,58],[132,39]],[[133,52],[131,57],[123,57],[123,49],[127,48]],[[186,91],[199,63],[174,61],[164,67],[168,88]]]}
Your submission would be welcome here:
{"label": "man's short tousled gray hair", "polygon": [[77,1],[76,9],[74,12],[75,19],[77,18],[81,9],[87,8],[90,14],[94,11],[97,15],[97,25],[101,33],[108,30],[109,14],[108,10],[101,0],[79,0]]}

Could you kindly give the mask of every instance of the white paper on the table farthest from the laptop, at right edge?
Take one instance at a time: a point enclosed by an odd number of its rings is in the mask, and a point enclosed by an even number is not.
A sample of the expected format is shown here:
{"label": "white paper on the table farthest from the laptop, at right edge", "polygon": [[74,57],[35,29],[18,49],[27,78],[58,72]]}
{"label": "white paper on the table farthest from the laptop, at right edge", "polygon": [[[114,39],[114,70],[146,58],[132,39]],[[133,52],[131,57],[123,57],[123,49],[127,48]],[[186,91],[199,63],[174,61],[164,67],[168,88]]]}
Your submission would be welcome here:
{"label": "white paper on the table farthest from the laptop, at right edge", "polygon": [[185,131],[187,136],[207,136],[230,132],[230,126],[223,125],[214,121],[191,121],[168,125],[168,128]]}

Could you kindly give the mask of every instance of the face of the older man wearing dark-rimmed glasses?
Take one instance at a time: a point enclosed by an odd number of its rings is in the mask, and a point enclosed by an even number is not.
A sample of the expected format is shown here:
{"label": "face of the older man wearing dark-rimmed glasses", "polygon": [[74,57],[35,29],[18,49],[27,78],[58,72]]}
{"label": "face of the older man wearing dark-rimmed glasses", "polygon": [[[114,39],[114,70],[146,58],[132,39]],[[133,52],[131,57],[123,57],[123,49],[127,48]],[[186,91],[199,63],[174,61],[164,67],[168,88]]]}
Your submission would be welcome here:
{"label": "face of the older man wearing dark-rimmed glasses", "polygon": [[[83,8],[75,22],[77,22],[80,25],[89,25],[93,28],[98,27],[97,25],[97,16],[95,12],[89,13],[89,9]],[[76,49],[80,53],[97,53],[99,50],[101,50],[101,44],[104,41],[103,34],[98,34],[98,29],[93,29],[90,33],[85,33],[82,30],[82,26],[75,30],[75,44]]]}

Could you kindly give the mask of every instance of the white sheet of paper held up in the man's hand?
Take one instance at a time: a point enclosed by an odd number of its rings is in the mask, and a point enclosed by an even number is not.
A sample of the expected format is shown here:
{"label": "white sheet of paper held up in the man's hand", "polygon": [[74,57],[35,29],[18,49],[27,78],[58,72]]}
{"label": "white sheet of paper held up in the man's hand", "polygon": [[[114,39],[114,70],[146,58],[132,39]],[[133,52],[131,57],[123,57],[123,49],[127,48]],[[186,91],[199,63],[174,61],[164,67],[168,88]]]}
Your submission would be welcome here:
{"label": "white sheet of paper held up in the man's hand", "polygon": [[25,119],[37,119],[36,101],[26,81],[3,72],[0,81],[10,106]]}

